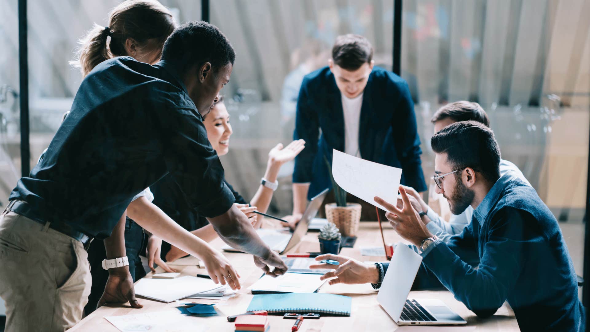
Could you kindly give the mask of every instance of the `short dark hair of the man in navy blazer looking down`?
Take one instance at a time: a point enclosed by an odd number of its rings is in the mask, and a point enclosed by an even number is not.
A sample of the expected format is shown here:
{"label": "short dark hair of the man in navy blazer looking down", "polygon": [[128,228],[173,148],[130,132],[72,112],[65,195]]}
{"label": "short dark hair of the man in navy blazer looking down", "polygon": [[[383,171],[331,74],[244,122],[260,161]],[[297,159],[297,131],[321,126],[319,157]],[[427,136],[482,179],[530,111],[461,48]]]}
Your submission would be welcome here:
{"label": "short dark hair of the man in navy blazer looking down", "polygon": [[373,47],[362,35],[339,35],[332,47],[334,63],[346,70],[357,70],[373,60]]}

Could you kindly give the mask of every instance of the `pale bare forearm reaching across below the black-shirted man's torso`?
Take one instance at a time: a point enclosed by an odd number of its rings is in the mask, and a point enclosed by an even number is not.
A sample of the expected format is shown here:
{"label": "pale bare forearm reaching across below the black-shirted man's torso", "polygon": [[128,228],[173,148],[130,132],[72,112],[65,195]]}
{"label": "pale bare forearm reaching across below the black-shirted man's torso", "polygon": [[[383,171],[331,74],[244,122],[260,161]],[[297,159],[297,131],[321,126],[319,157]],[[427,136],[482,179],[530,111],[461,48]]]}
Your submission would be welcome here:
{"label": "pale bare forearm reaching across below the black-shirted man's torso", "polygon": [[127,214],[148,232],[199,259],[203,259],[207,253],[214,250],[207,242],[183,229],[145,197],[132,201],[127,208]]}

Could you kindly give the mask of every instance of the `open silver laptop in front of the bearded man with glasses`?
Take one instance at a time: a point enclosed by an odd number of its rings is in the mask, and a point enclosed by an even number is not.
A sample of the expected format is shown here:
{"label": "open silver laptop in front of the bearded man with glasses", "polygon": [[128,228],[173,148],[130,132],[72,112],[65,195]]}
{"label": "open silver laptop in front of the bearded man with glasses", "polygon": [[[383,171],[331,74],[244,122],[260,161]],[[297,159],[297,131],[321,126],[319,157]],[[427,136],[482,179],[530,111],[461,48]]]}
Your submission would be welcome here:
{"label": "open silver laptop in front of the bearded man with glasses", "polygon": [[422,256],[399,243],[383,278],[377,302],[398,325],[467,324],[440,300],[408,298],[421,263]]}

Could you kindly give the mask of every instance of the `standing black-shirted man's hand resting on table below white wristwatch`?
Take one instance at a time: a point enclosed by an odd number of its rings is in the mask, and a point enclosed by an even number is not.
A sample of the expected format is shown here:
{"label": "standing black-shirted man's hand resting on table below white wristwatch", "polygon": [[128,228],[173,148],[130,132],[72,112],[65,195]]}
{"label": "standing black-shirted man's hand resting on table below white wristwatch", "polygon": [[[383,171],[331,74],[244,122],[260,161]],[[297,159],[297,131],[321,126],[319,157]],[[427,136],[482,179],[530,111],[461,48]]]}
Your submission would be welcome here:
{"label": "standing black-shirted man's hand resting on table below white wristwatch", "polygon": [[107,303],[124,303],[129,301],[132,308],[143,308],[143,304],[139,304],[135,298],[135,289],[133,289],[133,278],[129,273],[129,268],[123,266],[122,268],[109,269],[109,279],[104,286],[103,296],[100,297],[99,308]]}

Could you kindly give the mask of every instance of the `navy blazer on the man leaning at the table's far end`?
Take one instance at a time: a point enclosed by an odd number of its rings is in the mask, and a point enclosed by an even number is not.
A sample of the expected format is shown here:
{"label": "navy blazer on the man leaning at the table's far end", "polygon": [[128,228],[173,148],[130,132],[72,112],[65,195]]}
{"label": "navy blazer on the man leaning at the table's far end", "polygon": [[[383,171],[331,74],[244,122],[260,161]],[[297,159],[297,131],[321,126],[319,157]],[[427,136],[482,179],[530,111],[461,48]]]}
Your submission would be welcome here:
{"label": "navy blazer on the man leaning at the table's far end", "polygon": [[[426,191],[414,102],[408,84],[391,71],[373,67],[363,93],[360,155],[365,160],[402,168],[402,184]],[[322,129],[321,136],[319,129]],[[342,97],[329,67],[303,79],[293,138],[306,141],[305,148],[295,158],[293,183],[311,183],[309,198],[332,188],[324,157],[331,165],[332,149],[344,151],[345,134]]]}

